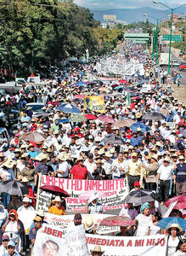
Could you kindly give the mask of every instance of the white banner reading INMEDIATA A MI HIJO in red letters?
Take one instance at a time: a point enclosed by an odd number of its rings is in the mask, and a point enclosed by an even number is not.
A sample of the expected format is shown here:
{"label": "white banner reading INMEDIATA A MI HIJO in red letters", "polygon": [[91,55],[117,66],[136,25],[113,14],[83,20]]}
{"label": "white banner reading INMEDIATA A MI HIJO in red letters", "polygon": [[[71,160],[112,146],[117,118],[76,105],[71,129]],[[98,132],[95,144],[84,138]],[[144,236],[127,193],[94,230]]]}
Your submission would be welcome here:
{"label": "white banner reading INMEDIATA A MI HIJO in red letters", "polygon": [[166,255],[167,236],[98,236],[86,234],[89,253],[100,246],[103,256]]}

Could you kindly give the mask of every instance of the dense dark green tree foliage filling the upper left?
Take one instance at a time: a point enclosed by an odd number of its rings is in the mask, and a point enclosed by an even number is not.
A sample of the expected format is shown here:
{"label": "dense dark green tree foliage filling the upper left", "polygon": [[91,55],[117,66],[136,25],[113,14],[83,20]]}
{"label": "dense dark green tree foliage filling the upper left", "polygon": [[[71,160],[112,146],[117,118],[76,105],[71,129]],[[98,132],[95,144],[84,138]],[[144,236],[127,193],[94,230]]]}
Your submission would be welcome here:
{"label": "dense dark green tree foliage filling the upper left", "polygon": [[99,23],[71,0],[0,0],[0,20],[0,65],[19,75],[98,47]]}

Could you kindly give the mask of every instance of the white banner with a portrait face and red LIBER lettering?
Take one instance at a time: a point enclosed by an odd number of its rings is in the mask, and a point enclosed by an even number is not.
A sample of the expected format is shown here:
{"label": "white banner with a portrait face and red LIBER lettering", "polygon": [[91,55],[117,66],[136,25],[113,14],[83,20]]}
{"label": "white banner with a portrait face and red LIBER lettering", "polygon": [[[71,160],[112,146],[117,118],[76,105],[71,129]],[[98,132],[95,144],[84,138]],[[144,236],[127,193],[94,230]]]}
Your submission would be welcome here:
{"label": "white banner with a portrait face and red LIBER lettering", "polygon": [[87,256],[83,225],[61,230],[58,226],[43,224],[37,231],[32,256]]}

